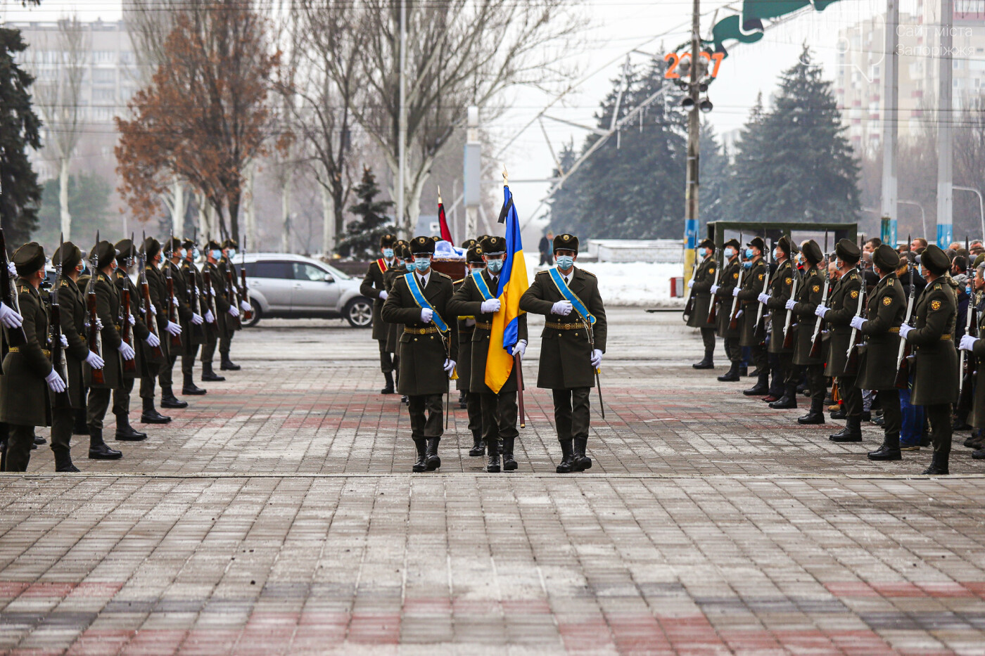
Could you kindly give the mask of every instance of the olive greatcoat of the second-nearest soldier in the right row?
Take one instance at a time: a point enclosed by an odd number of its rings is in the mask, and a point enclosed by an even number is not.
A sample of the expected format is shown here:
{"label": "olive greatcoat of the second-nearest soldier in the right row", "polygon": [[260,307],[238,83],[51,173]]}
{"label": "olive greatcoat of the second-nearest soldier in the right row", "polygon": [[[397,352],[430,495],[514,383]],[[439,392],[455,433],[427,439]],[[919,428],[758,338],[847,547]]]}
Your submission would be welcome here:
{"label": "olive greatcoat of the second-nearest soldier in the right row", "polygon": [[895,272],[867,295],[865,316],[861,332],[866,341],[859,357],[857,384],[860,389],[894,389],[899,326],[906,317],[906,296]]}

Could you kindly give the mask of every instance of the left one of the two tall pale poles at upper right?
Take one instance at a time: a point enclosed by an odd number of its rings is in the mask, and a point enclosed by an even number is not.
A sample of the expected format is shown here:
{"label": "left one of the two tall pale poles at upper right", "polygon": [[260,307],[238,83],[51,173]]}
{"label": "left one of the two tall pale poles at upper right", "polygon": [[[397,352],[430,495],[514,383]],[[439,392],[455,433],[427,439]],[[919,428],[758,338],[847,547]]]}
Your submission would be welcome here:
{"label": "left one of the two tall pale poles at upper right", "polygon": [[[883,241],[896,246],[899,219],[899,184],[896,145],[899,134],[899,0],[886,0],[886,71],[883,76]],[[924,235],[926,237],[926,235]]]}

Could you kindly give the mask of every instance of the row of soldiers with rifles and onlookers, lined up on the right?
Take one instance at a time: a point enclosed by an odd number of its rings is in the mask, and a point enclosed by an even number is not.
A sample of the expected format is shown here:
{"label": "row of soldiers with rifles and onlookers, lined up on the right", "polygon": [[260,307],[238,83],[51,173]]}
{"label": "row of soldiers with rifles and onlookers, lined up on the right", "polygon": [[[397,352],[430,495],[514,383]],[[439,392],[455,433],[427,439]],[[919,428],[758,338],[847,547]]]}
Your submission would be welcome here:
{"label": "row of soldiers with rifles and onlookers, lined up on the right", "polygon": [[845,422],[834,442],[862,442],[863,422],[881,426],[871,460],[930,447],[923,473],[948,474],[955,430],[970,430],[964,446],[985,459],[985,248],[862,244],[840,239],[823,253],[783,236],[767,251],[760,237],[730,239],[716,257],[702,241],[684,317],[704,342],[693,367],[714,368],[721,337],[729,369],[718,380],[751,377],[743,394],[773,410],[805,395],[796,421],[822,425],[826,410]]}

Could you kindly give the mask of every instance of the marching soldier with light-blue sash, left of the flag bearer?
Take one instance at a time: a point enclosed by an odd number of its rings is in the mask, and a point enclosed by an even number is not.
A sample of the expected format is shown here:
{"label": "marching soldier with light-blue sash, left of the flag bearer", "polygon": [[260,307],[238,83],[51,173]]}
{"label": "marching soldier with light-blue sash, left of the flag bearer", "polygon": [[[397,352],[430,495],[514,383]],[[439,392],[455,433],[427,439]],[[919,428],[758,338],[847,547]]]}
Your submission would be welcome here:
{"label": "marching soldier with light-blue sash, left of the flag bearer", "polygon": [[[413,471],[424,472],[441,466],[437,453],[444,430],[441,395],[448,392],[448,379],[455,370],[458,331],[448,323],[455,320],[449,307],[454,284],[451,278],[430,268],[434,240],[415,237],[411,241],[411,254],[414,261],[407,268],[412,269],[413,265],[413,271],[396,280],[380,317],[383,321],[404,324],[397,390],[409,399],[411,436],[418,450]],[[408,277],[413,280],[409,281]],[[415,292],[423,297],[419,299]]]}

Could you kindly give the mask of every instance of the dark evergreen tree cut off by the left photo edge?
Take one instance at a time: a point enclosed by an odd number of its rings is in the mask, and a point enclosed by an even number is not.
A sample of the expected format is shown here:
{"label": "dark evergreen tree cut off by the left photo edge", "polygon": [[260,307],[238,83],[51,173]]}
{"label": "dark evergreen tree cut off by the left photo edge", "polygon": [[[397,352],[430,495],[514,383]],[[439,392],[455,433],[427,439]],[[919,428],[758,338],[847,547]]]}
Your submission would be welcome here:
{"label": "dark evergreen tree cut off by the left photo edge", "polygon": [[26,152],[41,147],[41,121],[31,104],[34,79],[14,61],[27,47],[19,30],[0,28],[0,221],[11,251],[31,238],[41,197]]}

